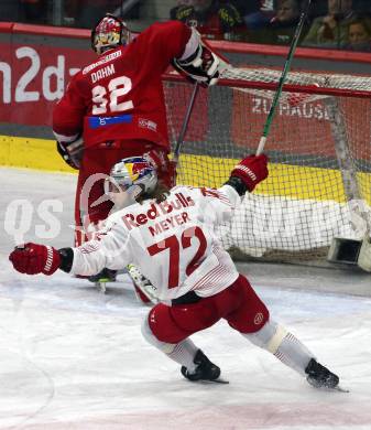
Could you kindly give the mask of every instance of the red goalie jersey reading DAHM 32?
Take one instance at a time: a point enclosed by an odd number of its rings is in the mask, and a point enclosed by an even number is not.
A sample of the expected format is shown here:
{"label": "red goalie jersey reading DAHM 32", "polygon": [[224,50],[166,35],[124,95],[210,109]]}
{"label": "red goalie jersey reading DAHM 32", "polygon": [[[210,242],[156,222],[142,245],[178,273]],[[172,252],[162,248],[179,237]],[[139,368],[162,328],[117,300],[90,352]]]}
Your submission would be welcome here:
{"label": "red goalie jersey reading DAHM 32", "polygon": [[54,108],[56,139],[72,141],[84,130],[85,147],[140,139],[168,149],[161,75],[173,58],[195,50],[190,36],[181,22],[155,23],[84,67]]}

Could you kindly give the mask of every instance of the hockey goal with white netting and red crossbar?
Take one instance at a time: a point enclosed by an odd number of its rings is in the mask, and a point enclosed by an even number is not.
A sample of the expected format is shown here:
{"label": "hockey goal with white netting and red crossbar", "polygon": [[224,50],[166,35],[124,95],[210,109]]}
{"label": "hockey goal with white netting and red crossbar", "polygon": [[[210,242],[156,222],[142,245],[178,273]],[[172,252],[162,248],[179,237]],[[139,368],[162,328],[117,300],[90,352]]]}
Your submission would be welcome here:
{"label": "hockey goal with white netting and red crossbar", "polygon": [[[218,86],[200,89],[178,183],[218,187],[255,152],[280,76],[272,68],[230,68]],[[193,87],[168,76],[164,88],[175,142]],[[326,258],[334,237],[360,239],[353,215],[370,215],[370,137],[371,78],[290,73],[264,150],[269,179],[220,229],[223,246],[250,257],[315,261]]]}

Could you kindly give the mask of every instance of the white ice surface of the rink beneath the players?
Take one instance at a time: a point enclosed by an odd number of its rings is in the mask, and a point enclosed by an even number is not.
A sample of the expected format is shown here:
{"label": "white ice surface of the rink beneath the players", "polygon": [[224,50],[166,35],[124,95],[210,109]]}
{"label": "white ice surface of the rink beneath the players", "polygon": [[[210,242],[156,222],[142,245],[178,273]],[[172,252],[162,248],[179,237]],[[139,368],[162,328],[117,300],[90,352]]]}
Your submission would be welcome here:
{"label": "white ice surface of the rink beneath the players", "polygon": [[[66,246],[75,178],[2,169],[0,181],[1,429],[371,429],[370,298],[280,289],[269,267],[254,279],[272,316],[339,374],[349,394],[312,388],[225,322],[193,338],[230,384],[192,384],[142,340],[148,308],[124,277],[102,295],[63,272],[12,270],[8,204],[61,198],[64,233],[54,243]],[[25,239],[35,239],[32,229]],[[305,287],[305,276],[284,284]]]}

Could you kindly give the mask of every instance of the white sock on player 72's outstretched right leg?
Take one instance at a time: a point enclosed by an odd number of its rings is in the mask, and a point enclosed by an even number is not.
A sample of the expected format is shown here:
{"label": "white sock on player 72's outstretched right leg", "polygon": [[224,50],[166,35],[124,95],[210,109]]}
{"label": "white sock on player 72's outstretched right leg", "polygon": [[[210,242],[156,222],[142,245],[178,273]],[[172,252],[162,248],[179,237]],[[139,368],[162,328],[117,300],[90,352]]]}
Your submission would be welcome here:
{"label": "white sock on player 72's outstretched right leg", "polygon": [[254,345],[269,351],[286,366],[305,376],[305,368],[314,354],[285,327],[270,320],[255,333],[242,333]]}

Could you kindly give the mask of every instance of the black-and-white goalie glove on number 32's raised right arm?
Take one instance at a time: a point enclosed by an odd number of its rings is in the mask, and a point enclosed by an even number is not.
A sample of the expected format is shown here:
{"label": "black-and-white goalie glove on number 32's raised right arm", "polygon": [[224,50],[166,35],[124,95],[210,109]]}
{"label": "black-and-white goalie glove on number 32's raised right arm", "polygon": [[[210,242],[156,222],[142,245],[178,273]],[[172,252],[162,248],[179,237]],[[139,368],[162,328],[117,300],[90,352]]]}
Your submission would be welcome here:
{"label": "black-and-white goalie glove on number 32's raised right arm", "polygon": [[198,32],[192,29],[192,37],[198,41],[196,51],[187,58],[174,58],[174,67],[192,83],[199,83],[207,87],[215,85],[227,64],[206,46],[199,37]]}

